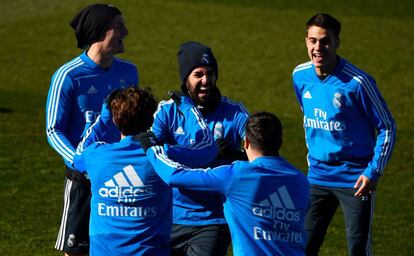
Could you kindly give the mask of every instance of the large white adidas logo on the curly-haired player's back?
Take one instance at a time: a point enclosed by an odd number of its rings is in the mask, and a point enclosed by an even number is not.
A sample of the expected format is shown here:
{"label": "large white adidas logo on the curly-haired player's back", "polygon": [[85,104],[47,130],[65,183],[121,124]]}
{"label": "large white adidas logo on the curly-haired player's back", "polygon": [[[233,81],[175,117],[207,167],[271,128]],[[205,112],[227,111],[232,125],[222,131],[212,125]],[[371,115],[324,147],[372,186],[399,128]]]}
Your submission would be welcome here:
{"label": "large white adidas logo on the curly-haired player's back", "polygon": [[123,172],[118,172],[104,184],[105,187],[99,189],[101,197],[126,198],[152,193],[152,187],[145,187],[132,165],[124,167]]}

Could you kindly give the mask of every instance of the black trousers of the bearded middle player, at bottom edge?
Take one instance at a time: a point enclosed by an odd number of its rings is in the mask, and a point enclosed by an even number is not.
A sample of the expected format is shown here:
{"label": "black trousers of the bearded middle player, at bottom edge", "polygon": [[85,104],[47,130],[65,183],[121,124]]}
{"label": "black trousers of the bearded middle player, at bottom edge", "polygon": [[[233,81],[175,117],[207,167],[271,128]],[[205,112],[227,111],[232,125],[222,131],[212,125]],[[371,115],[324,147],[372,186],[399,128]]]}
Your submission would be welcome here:
{"label": "black trousers of the bearded middle player, at bottom edge", "polygon": [[174,224],[170,255],[225,256],[230,241],[230,231],[227,224],[205,226]]}

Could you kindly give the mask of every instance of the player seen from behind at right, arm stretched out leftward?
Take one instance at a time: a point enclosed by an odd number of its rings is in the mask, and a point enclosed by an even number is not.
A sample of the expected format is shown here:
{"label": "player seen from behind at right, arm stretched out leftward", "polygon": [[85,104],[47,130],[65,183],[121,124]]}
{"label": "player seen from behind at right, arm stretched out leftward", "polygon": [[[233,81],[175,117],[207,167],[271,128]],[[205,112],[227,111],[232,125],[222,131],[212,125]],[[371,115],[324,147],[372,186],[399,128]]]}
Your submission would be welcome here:
{"label": "player seen from behind at right, arm stretched out leftward", "polygon": [[282,126],[275,115],[259,112],[249,117],[244,141],[248,162],[191,169],[167,158],[150,134],[141,137],[141,144],[169,185],[220,193],[233,255],[305,254],[309,182],[279,156]]}

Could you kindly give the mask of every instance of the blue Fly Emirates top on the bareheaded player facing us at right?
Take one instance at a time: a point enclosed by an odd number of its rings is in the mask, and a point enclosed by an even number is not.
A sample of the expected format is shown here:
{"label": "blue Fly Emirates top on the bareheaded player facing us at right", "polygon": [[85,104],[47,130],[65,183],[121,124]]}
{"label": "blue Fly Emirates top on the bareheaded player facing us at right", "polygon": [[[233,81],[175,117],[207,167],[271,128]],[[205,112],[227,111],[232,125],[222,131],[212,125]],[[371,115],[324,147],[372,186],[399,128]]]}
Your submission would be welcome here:
{"label": "blue Fly Emirates top on the bareheaded player facing us at right", "polygon": [[345,59],[321,80],[312,62],[293,71],[304,118],[311,184],[352,188],[377,180],[390,159],[395,122],[375,80]]}

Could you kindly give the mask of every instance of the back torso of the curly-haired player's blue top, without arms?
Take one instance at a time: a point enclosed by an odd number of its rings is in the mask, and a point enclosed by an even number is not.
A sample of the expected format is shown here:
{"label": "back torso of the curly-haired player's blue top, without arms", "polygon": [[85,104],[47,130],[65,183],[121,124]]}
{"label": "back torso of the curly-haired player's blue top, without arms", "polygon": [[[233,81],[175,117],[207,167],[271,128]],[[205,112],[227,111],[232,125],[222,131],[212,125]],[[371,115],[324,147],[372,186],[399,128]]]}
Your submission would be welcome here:
{"label": "back torso of the curly-haired player's blue top, without arms", "polygon": [[93,144],[82,153],[91,180],[91,255],[168,255],[171,190],[139,142]]}

